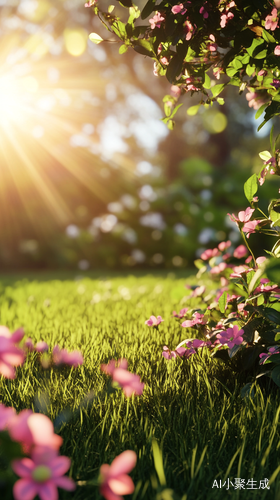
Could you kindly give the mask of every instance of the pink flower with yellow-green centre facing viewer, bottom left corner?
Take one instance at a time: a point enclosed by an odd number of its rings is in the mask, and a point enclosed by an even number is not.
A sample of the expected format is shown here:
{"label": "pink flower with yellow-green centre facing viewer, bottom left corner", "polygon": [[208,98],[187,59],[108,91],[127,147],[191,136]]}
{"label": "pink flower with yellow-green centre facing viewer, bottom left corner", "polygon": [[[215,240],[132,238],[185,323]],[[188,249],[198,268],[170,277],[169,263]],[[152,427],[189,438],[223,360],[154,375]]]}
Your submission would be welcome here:
{"label": "pink flower with yellow-green centre facing viewer, bottom left corner", "polygon": [[71,460],[57,456],[53,450],[34,450],[31,458],[12,462],[13,471],[22,479],[13,487],[15,500],[32,500],[36,495],[41,500],[57,500],[57,488],[73,491],[76,485],[63,474],[69,469]]}

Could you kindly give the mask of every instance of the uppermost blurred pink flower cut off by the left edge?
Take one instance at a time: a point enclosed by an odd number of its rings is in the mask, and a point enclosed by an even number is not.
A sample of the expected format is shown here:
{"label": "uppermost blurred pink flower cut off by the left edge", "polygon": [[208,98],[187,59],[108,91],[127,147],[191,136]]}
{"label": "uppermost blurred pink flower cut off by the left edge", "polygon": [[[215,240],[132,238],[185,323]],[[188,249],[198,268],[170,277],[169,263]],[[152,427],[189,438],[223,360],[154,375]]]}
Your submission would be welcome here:
{"label": "uppermost blurred pink flower cut off by the left edge", "polygon": [[0,375],[6,378],[15,378],[15,366],[24,362],[24,352],[15,343],[24,336],[22,328],[11,334],[6,326],[0,326]]}

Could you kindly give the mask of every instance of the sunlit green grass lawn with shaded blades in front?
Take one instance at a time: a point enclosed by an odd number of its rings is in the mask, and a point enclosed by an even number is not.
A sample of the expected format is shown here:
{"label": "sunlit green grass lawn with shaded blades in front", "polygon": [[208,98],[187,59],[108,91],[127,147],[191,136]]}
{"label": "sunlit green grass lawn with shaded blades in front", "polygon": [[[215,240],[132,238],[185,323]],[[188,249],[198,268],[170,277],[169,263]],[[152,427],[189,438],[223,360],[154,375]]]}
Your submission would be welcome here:
{"label": "sunlit green grass lawn with shaded blades in front", "polygon": [[[60,490],[61,499],[101,499],[90,481],[127,449],[138,456],[128,500],[280,499],[277,387],[268,391],[263,382],[253,398],[242,399],[244,379],[206,349],[185,361],[162,357],[163,345],[174,349],[195,337],[171,317],[174,309],[195,305],[184,301],[184,284],[197,284],[188,275],[0,276],[0,324],[12,331],[23,326],[34,342],[79,349],[84,356],[77,369],[44,371],[31,353],[15,380],[0,377],[0,402],[43,411],[55,421],[64,440],[61,454],[72,459],[70,475],[79,482],[74,493]],[[144,324],[151,314],[164,319],[159,331]],[[142,396],[106,392],[109,377],[100,364],[121,357],[145,383]],[[92,399],[85,400],[89,393]],[[76,411],[70,417],[61,413],[65,409]],[[235,478],[244,480],[244,489],[235,489]],[[259,488],[266,478],[270,489]],[[215,480],[219,487],[212,487]],[[0,497],[10,498],[8,492]]]}

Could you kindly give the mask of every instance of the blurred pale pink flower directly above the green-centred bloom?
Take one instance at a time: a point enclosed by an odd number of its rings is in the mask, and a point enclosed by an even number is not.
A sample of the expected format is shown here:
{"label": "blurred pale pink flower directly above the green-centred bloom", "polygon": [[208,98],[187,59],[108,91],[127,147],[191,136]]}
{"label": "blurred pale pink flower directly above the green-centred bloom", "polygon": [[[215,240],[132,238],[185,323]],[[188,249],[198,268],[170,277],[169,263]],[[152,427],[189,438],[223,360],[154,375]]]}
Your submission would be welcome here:
{"label": "blurred pale pink flower directly above the green-centred bloom", "polygon": [[58,450],[63,439],[54,434],[53,423],[40,413],[32,410],[23,410],[8,424],[11,438],[23,445],[24,451],[29,453],[35,446],[44,446]]}

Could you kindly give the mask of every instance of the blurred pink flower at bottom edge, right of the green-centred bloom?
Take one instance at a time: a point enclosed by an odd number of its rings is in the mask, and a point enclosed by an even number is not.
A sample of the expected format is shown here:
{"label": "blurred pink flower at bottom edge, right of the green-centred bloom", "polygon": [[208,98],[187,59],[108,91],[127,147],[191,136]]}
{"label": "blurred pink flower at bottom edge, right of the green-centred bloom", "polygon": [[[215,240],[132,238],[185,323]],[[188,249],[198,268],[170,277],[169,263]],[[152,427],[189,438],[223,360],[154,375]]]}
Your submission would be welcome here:
{"label": "blurred pink flower at bottom edge, right of the green-centred bloom", "polygon": [[126,450],[117,456],[111,465],[101,465],[100,493],[106,500],[123,500],[120,495],[133,493],[134,483],[127,474],[135,467],[136,461],[136,453]]}

